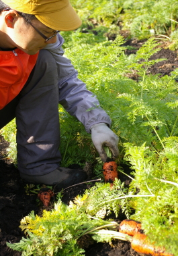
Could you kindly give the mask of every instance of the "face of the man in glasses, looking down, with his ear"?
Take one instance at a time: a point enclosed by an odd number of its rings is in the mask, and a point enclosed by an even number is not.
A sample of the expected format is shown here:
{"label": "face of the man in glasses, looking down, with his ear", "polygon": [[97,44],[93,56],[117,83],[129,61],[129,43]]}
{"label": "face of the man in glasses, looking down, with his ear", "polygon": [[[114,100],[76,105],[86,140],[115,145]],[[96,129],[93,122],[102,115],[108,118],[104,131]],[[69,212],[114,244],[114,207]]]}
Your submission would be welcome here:
{"label": "face of the man in glasses, looking down, with his ear", "polygon": [[[25,53],[33,55],[40,49],[46,47],[46,45],[56,43],[56,36],[46,42],[30,24],[26,23],[24,18],[21,17],[17,11],[10,10],[8,12],[9,16],[7,15],[6,19],[7,24],[10,24],[10,26],[7,28],[7,34],[13,47],[17,47]],[[37,19],[32,20],[31,23],[46,37],[50,37],[54,34],[52,28],[48,28]]]}

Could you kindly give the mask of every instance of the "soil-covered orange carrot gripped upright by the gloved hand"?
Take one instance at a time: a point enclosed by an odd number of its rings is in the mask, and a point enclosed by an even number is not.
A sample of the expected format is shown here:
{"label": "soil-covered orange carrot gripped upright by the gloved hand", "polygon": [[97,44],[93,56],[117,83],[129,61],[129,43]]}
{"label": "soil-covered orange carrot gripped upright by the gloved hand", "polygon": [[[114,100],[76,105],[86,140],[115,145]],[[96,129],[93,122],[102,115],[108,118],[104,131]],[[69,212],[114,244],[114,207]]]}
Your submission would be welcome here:
{"label": "soil-covered orange carrot gripped upright by the gloved hand", "polygon": [[118,165],[115,161],[108,161],[103,164],[103,175],[105,182],[113,183],[118,178]]}

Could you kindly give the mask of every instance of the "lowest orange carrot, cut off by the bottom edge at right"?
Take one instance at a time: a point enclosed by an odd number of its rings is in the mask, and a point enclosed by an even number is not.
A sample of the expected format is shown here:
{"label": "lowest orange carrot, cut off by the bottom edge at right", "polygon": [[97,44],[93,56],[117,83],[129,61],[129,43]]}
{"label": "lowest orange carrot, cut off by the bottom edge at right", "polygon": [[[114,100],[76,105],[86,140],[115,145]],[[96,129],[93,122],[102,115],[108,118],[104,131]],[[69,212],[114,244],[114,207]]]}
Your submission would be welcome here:
{"label": "lowest orange carrot, cut off by the bottom edge at right", "polygon": [[164,248],[155,247],[146,239],[145,234],[136,233],[132,237],[131,247],[137,253],[150,256],[173,256],[171,253],[167,253]]}

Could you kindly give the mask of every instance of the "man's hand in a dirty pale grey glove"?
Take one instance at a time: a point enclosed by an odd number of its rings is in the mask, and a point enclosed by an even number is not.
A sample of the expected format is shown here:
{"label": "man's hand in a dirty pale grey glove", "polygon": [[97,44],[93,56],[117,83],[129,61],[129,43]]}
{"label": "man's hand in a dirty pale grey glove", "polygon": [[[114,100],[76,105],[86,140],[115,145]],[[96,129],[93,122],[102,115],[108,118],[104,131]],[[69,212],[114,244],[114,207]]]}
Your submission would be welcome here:
{"label": "man's hand in a dirty pale grey glove", "polygon": [[91,139],[103,162],[105,162],[107,159],[104,146],[109,147],[110,151],[112,151],[113,159],[118,157],[119,138],[111,129],[109,129],[107,124],[99,123],[91,126]]}

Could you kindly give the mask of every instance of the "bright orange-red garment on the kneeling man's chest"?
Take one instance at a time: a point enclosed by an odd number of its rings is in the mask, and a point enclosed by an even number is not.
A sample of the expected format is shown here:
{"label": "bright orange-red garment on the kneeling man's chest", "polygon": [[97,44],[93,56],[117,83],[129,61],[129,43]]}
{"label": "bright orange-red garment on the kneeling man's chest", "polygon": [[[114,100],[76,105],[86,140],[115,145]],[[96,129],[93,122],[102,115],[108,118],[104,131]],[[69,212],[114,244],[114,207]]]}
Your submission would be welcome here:
{"label": "bright orange-red garment on the kneeling man's chest", "polygon": [[0,109],[15,98],[26,84],[38,53],[28,55],[20,49],[0,51]]}

